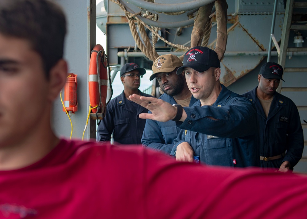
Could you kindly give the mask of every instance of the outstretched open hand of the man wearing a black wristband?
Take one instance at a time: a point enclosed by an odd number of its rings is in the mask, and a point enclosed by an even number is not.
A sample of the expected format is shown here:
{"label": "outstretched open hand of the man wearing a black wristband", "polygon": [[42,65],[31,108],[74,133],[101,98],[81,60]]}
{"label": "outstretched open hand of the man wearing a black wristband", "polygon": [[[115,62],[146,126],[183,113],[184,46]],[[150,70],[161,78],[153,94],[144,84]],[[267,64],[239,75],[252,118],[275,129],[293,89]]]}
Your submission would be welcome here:
{"label": "outstretched open hand of the man wearing a black wristband", "polygon": [[129,96],[130,100],[150,110],[151,113],[141,113],[141,119],[152,119],[160,122],[166,122],[175,118],[177,107],[170,103],[154,97],[144,97],[137,94]]}

